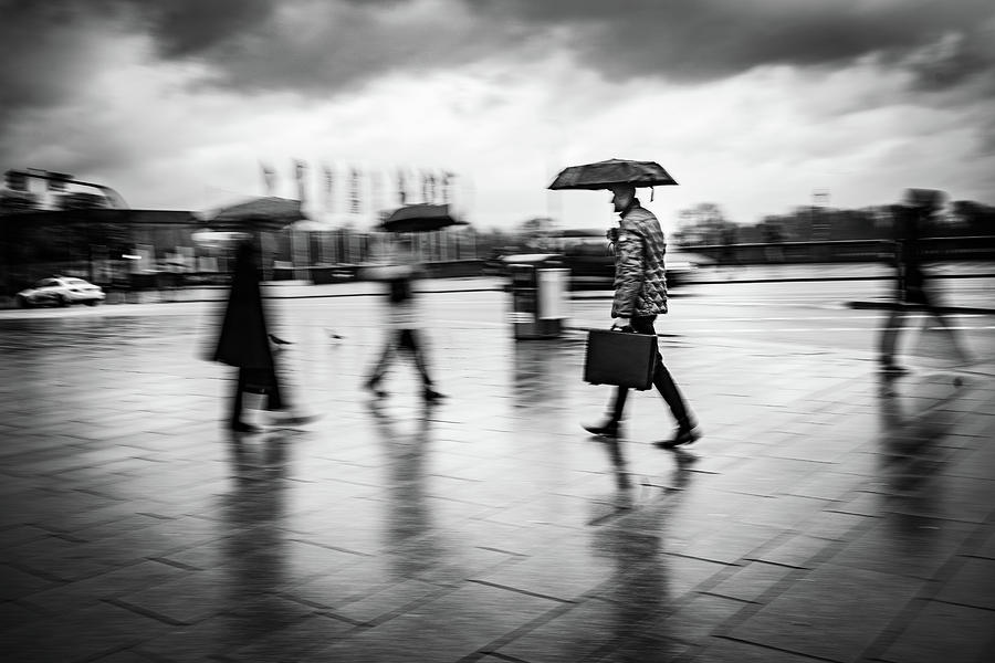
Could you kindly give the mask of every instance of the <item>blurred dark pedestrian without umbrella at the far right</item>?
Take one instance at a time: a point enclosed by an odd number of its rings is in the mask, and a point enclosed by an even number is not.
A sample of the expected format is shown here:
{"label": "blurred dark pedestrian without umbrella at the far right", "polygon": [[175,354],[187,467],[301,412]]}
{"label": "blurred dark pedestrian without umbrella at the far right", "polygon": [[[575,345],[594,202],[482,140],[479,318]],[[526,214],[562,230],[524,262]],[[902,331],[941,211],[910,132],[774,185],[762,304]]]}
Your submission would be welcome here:
{"label": "blurred dark pedestrian without umbrella at the far right", "polygon": [[923,266],[922,236],[932,217],[943,207],[943,191],[934,189],[909,189],[903,204],[892,206],[894,228],[894,305],[881,330],[881,370],[897,376],[908,369],[896,361],[899,334],[904,328],[910,313],[925,311],[949,333],[951,344],[960,361],[967,361],[967,354],[961,348],[953,329],[943,317],[928,287],[928,274]]}

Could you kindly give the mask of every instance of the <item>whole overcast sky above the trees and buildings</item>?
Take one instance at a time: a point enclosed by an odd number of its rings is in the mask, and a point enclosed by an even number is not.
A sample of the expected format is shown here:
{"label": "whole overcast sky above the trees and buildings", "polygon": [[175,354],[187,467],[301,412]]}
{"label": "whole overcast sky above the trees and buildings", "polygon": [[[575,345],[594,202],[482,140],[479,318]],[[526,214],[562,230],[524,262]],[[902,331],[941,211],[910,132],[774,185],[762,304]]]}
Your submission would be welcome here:
{"label": "whole overcast sky above the trees and buildings", "polygon": [[677,179],[640,193],[671,228],[700,202],[754,223],[817,191],[842,208],[907,187],[995,203],[992,0],[0,8],[0,167],[103,182],[135,208],[263,194],[261,164],[296,197],[298,159],[320,217],[324,166],[336,209],[348,169],[405,168],[455,172],[481,228],[607,227],[606,192],[546,187],[611,157]]}

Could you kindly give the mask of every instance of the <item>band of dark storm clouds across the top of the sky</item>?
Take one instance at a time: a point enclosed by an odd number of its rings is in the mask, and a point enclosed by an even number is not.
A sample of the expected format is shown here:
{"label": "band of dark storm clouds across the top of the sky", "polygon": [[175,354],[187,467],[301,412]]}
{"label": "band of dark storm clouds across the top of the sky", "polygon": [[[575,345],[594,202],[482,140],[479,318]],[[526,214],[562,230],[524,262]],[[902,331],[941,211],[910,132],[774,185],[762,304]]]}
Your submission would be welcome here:
{"label": "band of dark storm clouds across the top of the sky", "polygon": [[995,64],[993,14],[991,0],[0,0],[0,123],[85,84],[115,33],[247,91],[327,94],[563,49],[606,75],[685,82],[873,54],[943,90]]}

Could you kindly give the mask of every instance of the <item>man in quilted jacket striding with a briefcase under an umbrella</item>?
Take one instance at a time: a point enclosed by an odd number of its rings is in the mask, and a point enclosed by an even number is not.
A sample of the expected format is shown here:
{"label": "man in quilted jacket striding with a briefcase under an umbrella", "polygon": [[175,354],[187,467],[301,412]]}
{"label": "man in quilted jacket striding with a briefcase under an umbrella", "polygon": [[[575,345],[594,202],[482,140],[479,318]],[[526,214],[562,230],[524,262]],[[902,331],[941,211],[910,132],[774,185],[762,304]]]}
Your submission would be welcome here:
{"label": "man in quilted jacket striding with a briefcase under an umbrella", "polygon": [[[614,233],[617,240],[612,328],[656,335],[653,320],[659,314],[667,313],[667,275],[663,263],[667,243],[663,230],[657,217],[639,204],[635,187],[618,185],[611,188],[611,202],[620,217],[618,232]],[[659,351],[653,386],[667,401],[677,421],[673,438],[658,442],[658,446],[671,449],[698,440],[701,431]],[[595,435],[618,438],[628,392],[627,388],[619,387],[608,419],[599,424],[584,425],[584,429]]]}

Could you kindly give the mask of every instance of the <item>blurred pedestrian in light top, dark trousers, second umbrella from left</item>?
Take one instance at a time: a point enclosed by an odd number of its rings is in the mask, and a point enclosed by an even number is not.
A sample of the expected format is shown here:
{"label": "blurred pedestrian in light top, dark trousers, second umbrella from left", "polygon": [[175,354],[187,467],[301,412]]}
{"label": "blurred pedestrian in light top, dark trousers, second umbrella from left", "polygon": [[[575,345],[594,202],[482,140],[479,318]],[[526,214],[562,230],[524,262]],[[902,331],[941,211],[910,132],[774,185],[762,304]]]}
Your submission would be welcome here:
{"label": "blurred pedestrian in light top, dark trousers, second umbrella from left", "polygon": [[395,242],[390,261],[392,264],[367,270],[368,277],[384,284],[387,339],[380,357],[364,386],[374,396],[386,397],[387,392],[381,389],[380,382],[395,356],[404,351],[413,359],[415,367],[421,377],[422,398],[426,402],[436,402],[444,398],[444,394],[436,390],[434,382],[429,375],[419,319],[418,296],[415,290],[415,282],[420,276],[421,270],[408,242],[409,240]]}

